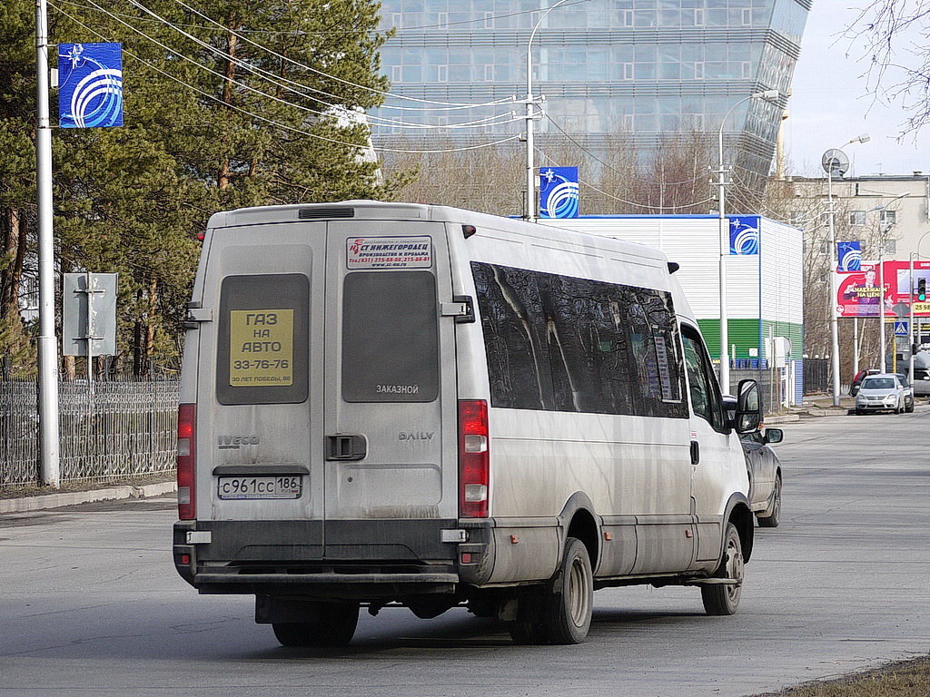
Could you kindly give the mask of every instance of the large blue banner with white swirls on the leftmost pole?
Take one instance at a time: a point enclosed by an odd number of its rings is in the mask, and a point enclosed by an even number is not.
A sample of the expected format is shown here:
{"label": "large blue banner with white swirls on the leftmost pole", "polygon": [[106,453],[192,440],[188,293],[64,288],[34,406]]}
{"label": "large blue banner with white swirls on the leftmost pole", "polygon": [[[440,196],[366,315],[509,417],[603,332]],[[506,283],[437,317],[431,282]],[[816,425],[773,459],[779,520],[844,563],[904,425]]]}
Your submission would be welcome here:
{"label": "large blue banner with white swirls on the leftmost pole", "polygon": [[123,125],[123,45],[59,45],[59,125]]}

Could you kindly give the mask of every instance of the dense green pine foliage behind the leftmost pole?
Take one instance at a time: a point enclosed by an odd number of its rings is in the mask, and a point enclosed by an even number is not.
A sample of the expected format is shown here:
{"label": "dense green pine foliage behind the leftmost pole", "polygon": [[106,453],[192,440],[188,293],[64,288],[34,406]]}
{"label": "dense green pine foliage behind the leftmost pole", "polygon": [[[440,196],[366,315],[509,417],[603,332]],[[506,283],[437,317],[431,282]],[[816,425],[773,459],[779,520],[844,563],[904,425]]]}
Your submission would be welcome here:
{"label": "dense green pine foliage behind the leftmost pole", "polygon": [[[55,226],[60,270],[120,273],[119,348],[137,364],[179,355],[196,235],[211,213],[388,198],[396,187],[365,159],[357,118],[388,88],[378,3],[142,5],[150,12],[127,0],[53,3],[50,15],[53,41],[124,46],[126,125],[54,134]],[[34,200],[32,41],[33,5],[3,4],[0,208]]]}

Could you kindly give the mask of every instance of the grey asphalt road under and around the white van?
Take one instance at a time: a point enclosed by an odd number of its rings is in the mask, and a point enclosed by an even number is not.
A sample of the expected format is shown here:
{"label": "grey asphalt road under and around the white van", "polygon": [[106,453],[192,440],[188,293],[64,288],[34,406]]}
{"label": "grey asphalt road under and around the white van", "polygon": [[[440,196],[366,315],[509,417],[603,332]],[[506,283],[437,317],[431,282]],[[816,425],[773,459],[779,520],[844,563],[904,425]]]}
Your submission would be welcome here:
{"label": "grey asphalt road under and around the white van", "polygon": [[930,652],[930,410],[785,427],[783,522],[737,615],[696,588],[599,591],[575,647],[464,611],[363,613],[343,651],[284,649],[246,597],[198,596],[167,500],[0,518],[0,695],[744,695]]}

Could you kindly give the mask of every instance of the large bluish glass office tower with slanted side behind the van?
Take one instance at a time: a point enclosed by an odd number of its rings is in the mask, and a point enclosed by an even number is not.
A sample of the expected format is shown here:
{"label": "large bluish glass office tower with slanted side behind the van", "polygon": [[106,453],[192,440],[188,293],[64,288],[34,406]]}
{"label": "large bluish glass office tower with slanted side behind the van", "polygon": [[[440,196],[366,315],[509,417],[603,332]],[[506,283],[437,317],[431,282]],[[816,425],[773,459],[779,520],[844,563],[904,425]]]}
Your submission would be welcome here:
{"label": "large bluish glass office tower with slanted side behind the van", "polygon": [[[469,110],[432,102],[483,103],[525,95],[532,27],[556,0],[382,0],[381,51],[392,81],[388,108],[373,112],[377,142],[487,142],[519,134],[522,105]],[[624,134],[648,151],[669,134],[716,134],[724,113],[764,89],[787,95],[809,0],[578,0],[554,9],[534,41],[535,92],[555,124],[584,134],[591,149]],[[768,174],[782,108],[747,101],[724,126],[737,164]],[[449,130],[393,125],[491,124]],[[508,123],[509,122],[509,123]],[[541,142],[560,134],[538,123]],[[564,142],[564,141],[563,141]]]}

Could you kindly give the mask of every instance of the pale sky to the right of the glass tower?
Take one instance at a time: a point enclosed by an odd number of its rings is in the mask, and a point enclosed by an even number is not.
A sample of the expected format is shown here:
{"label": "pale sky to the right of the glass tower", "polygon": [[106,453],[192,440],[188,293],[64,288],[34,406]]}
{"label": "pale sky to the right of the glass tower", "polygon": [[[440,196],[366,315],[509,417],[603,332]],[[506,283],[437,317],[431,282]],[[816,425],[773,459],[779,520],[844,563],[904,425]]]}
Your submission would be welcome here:
{"label": "pale sky to the right of the glass tower", "polygon": [[[822,173],[823,151],[839,147],[853,163],[850,174],[930,172],[930,126],[916,138],[901,136],[908,112],[900,101],[889,102],[881,95],[875,99],[873,85],[864,75],[865,46],[842,36],[857,19],[860,5],[855,0],[814,0],[785,129],[790,173]],[[868,133],[870,142],[843,146],[860,133]]]}

